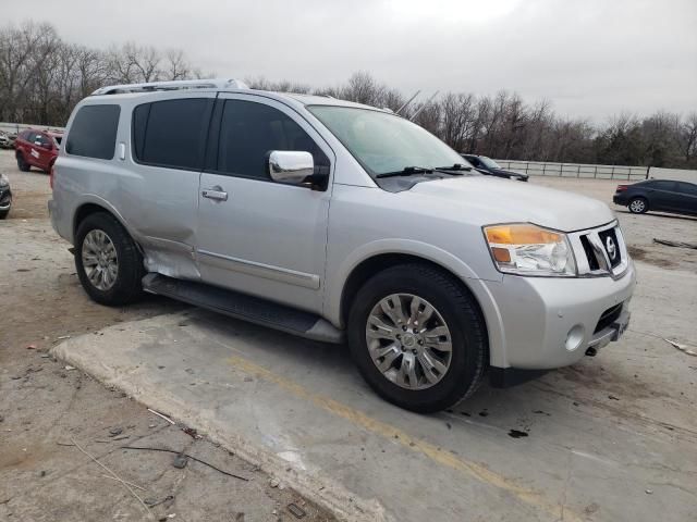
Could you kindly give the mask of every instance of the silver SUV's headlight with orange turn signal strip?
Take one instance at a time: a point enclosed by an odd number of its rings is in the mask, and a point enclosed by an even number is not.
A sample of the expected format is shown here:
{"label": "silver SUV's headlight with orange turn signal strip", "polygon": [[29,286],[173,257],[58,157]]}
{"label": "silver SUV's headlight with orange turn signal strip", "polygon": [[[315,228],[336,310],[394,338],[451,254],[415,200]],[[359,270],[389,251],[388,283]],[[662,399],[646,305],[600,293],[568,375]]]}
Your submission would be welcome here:
{"label": "silver SUV's headlight with orange turn signal strip", "polygon": [[501,272],[576,275],[576,262],[566,234],[529,223],[485,226],[484,233],[491,257]]}

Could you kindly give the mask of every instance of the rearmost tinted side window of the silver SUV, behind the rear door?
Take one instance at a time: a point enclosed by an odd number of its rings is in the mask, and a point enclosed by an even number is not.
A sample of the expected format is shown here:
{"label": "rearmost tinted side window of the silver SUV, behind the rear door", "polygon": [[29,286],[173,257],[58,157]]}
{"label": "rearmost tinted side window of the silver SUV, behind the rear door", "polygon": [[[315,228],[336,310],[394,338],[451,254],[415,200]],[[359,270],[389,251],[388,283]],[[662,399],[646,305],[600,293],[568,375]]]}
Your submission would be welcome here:
{"label": "rearmost tinted side window of the silver SUV, behind the rear door", "polygon": [[73,156],[111,160],[117,145],[120,113],[119,105],[81,108],[70,127],[65,151]]}

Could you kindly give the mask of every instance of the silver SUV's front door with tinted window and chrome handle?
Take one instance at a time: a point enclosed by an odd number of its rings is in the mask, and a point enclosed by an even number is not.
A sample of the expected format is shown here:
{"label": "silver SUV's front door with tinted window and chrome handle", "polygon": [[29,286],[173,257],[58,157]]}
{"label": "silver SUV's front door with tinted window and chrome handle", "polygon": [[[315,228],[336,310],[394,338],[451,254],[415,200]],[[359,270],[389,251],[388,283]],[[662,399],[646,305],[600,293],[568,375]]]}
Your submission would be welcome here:
{"label": "silver SUV's front door with tinted window and chrome handle", "polygon": [[319,312],[331,183],[319,191],[271,181],[271,150],[308,151],[327,169],[333,158],[283,103],[221,94],[200,177],[200,273],[213,285]]}

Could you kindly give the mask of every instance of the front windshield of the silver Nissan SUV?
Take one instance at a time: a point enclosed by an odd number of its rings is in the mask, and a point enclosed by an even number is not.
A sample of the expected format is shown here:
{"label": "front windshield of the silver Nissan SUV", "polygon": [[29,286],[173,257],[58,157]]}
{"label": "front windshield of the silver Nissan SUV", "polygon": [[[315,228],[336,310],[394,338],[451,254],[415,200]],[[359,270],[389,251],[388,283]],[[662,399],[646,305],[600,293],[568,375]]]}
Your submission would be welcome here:
{"label": "front windshield of the silver Nissan SUV", "polygon": [[418,125],[394,114],[337,105],[307,108],[348,152],[376,176],[408,166],[468,164],[453,149]]}

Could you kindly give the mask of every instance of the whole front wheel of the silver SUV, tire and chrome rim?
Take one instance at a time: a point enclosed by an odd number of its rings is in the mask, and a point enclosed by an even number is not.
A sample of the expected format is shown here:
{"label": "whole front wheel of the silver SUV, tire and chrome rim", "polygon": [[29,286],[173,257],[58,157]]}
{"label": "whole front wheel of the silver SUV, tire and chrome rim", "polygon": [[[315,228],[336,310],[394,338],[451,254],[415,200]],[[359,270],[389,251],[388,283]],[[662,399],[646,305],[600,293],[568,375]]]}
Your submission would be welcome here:
{"label": "whole front wheel of the silver SUV, tire and chrome rim", "polygon": [[[421,334],[409,332],[415,323],[414,313],[411,311],[414,300],[407,302],[411,299],[408,296],[420,300],[416,307],[418,310],[424,307],[424,314],[416,315],[417,320],[427,318],[427,306],[430,304],[435,309],[429,319],[421,321],[421,326],[426,325],[423,328],[426,333],[420,338]],[[399,336],[399,327],[388,334],[389,339],[371,337],[368,341],[368,331],[371,336],[382,335],[381,332],[386,332],[384,326],[398,325],[390,319],[391,315],[386,313],[380,319],[382,325],[375,326],[378,324],[375,322],[377,314],[384,310],[378,307],[381,307],[386,299],[395,304],[392,311],[396,309],[398,300],[403,309],[409,307],[406,309],[407,313],[403,314],[403,318],[407,319],[408,327],[405,333],[402,327],[399,341],[392,340],[391,337],[392,333]],[[368,323],[369,320],[371,323]],[[432,343],[436,328],[438,333],[444,332],[441,323],[449,335],[438,336],[438,343]],[[421,326],[412,332],[420,330]],[[429,333],[433,335],[424,337]],[[415,337],[418,345],[414,344]],[[482,381],[488,362],[486,326],[474,297],[452,275],[420,263],[387,269],[371,277],[358,290],[348,314],[347,338],[353,359],[370,387],[383,399],[420,413],[440,411],[474,394]],[[431,340],[428,340],[429,338]],[[428,347],[447,346],[442,343],[443,339],[450,339],[450,352]],[[392,344],[396,348],[393,348]],[[374,362],[374,356],[384,350],[390,351],[384,358],[378,358],[377,362]],[[409,356],[409,350],[413,357]],[[426,360],[438,359],[442,364],[441,369],[447,366],[445,370],[437,372],[433,363],[429,371],[430,376],[427,376],[425,364],[421,362],[424,359],[420,359],[426,350],[429,350]],[[412,374],[416,377],[414,383],[412,378],[405,382],[400,375],[401,369],[409,360],[407,358],[413,361],[406,364],[407,368],[416,366]],[[391,363],[389,359],[393,359]],[[383,364],[382,370],[378,368],[378,363]],[[384,372],[387,364],[391,366]],[[401,384],[398,384],[400,381]]]}

